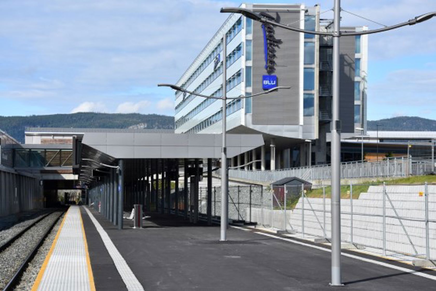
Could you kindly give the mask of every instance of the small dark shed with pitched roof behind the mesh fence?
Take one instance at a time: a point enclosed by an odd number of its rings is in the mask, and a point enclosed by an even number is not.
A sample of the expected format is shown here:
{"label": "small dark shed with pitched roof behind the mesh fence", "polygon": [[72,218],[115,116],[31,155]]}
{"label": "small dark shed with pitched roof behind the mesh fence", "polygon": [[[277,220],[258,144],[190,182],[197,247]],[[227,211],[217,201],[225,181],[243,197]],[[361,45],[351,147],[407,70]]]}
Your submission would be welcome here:
{"label": "small dark shed with pitched roof behind the mesh fence", "polygon": [[[297,177],[287,177],[271,183],[272,191],[275,199],[273,198],[273,204],[282,204],[285,200],[285,187],[286,187],[286,200],[289,204],[290,199],[299,198],[302,190],[312,189],[312,183],[305,181]],[[277,205],[278,206],[278,205]]]}

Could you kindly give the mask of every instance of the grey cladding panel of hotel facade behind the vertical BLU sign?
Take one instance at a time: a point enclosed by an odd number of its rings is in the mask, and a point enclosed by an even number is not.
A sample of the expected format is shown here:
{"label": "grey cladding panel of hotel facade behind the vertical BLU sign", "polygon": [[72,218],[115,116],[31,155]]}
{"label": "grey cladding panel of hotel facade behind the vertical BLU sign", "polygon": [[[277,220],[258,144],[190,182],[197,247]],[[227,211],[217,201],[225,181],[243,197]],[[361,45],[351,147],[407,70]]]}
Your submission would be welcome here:
{"label": "grey cladding panel of hotel facade behind the vertical BLU sign", "polygon": [[[283,24],[299,23],[300,11],[270,12]],[[275,38],[282,41],[276,47],[276,70],[278,86],[292,86],[267,96],[253,98],[253,125],[297,125],[300,122],[300,34],[275,28]],[[261,24],[253,22],[252,41],[252,90],[262,92],[262,75],[268,75],[265,66],[264,40]]]}

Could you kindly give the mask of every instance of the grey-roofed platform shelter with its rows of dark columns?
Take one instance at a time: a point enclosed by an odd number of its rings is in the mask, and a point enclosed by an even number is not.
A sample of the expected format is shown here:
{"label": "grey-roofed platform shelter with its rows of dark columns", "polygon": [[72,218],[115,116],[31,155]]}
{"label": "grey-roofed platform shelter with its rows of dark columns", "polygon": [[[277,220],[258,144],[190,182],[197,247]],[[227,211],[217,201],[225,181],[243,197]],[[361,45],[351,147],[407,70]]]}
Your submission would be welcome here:
{"label": "grey-roofed platform shelter with its rows of dark columns", "polygon": [[[228,134],[228,158],[263,144],[260,134]],[[211,186],[212,164],[218,165],[219,157],[221,134],[87,132],[73,137],[72,167],[87,189],[86,202],[119,229],[123,212],[134,204],[196,223],[198,183],[207,172]],[[211,202],[207,220],[211,223]]]}

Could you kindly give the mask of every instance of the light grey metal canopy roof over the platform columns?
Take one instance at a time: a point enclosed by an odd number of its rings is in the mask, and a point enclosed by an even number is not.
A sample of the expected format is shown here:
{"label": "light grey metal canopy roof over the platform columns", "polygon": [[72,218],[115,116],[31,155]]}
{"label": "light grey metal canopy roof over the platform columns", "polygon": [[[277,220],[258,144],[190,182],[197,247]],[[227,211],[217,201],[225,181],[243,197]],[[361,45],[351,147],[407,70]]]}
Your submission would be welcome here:
{"label": "light grey metal canopy roof over the platform columns", "polygon": [[[94,174],[107,172],[106,165],[118,160],[157,159],[183,164],[193,159],[221,157],[221,134],[174,134],[168,132],[85,132],[73,139],[73,169],[76,173],[92,169]],[[264,144],[261,134],[227,134],[227,156],[251,151]],[[130,167],[129,167],[130,168]],[[129,171],[130,172],[130,171]]]}

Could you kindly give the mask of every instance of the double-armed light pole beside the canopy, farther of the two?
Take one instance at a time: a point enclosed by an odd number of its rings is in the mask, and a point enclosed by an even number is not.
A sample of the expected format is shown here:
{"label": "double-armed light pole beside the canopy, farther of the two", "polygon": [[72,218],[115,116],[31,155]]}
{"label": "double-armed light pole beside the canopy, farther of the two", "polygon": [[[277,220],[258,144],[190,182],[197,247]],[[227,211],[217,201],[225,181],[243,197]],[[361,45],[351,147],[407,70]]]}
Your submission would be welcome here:
{"label": "double-armed light pole beside the canopy, farther of the two", "polygon": [[221,115],[222,115],[222,145],[221,145],[221,236],[220,240],[225,241],[227,240],[227,224],[228,224],[228,175],[227,175],[227,147],[226,147],[226,105],[227,105],[227,99],[243,99],[243,98],[249,98],[254,96],[259,96],[263,94],[268,94],[270,92],[276,91],[278,89],[290,89],[289,86],[277,86],[274,88],[271,88],[264,92],[259,92],[256,94],[252,94],[250,96],[239,96],[239,97],[227,97],[227,76],[226,76],[226,59],[227,59],[227,52],[226,52],[226,34],[224,33],[222,37],[222,97],[213,97],[213,96],[206,96],[203,94],[198,94],[195,92],[188,91],[180,86],[173,85],[173,84],[157,84],[157,86],[164,86],[164,87],[170,87],[171,89],[174,89],[176,91],[186,92],[191,95],[200,96],[204,98],[211,98],[211,99],[222,99],[222,108],[221,108]]}

